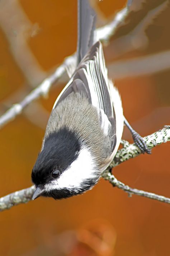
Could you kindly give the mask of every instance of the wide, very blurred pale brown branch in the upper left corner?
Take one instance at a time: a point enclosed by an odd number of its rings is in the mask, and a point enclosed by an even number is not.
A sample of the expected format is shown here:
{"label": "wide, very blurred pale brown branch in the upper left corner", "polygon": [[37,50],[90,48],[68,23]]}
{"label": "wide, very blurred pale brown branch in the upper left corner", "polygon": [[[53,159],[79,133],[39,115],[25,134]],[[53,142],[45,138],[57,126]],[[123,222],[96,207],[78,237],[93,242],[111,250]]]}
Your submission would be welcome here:
{"label": "wide, very blurred pale brown branch in the upper left corner", "polygon": [[5,33],[16,63],[29,84],[33,86],[42,81],[47,73],[43,71],[28,45],[30,36],[36,35],[40,28],[37,23],[32,24],[29,21],[18,0],[0,1],[0,27]]}

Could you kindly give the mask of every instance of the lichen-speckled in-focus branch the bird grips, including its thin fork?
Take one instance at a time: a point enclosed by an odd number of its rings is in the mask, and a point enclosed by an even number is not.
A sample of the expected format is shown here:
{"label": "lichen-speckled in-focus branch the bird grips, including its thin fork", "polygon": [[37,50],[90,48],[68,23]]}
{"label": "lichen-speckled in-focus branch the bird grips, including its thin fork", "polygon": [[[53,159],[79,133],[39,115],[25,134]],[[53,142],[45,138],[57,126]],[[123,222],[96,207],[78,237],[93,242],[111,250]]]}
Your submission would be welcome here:
{"label": "lichen-speckled in-focus branch the bird grips, including its thin fork", "polygon": [[[153,148],[156,145],[161,143],[166,143],[170,141],[170,126],[165,126],[162,130],[157,131],[151,135],[144,137],[146,144],[149,148]],[[141,154],[140,149],[136,147],[134,144],[129,144],[126,141],[122,141],[124,148],[118,150],[117,154],[114,157],[113,162],[110,167],[115,167],[120,163],[127,161],[131,158],[139,156]],[[120,188],[127,192],[130,196],[132,194],[136,194],[138,196],[148,197],[151,199],[155,199],[157,201],[161,201],[164,203],[170,203],[170,198],[166,198],[164,196],[159,196],[154,193],[146,192],[143,190],[130,188],[128,185],[125,185],[121,181],[117,180],[113,174],[110,173],[109,169],[105,170],[103,174],[103,178],[108,180],[114,187]],[[20,203],[26,203],[32,199],[32,195],[34,193],[34,186],[23,189],[14,193],[11,193],[5,197],[0,198],[0,211],[7,210],[12,206],[19,205]]]}

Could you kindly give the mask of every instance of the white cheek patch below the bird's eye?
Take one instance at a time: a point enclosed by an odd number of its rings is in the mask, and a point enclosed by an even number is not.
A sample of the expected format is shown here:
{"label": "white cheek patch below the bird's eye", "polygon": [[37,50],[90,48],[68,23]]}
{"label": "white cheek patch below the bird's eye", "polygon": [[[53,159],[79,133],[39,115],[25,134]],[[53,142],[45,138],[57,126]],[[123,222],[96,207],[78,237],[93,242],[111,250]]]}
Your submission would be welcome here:
{"label": "white cheek patch below the bird's eye", "polygon": [[96,174],[97,170],[91,153],[87,148],[82,148],[79,156],[71,163],[70,167],[58,179],[53,180],[44,187],[46,191],[63,188],[79,189],[84,180],[93,179]]}

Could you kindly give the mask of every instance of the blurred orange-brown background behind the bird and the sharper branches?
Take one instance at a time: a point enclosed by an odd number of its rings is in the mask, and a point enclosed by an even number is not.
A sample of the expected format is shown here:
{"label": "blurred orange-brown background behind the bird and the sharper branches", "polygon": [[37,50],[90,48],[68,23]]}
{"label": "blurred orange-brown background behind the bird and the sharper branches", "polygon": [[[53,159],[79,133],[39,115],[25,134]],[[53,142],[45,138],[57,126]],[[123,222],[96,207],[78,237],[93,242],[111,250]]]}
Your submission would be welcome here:
{"label": "blurred orange-brown background behind the bird and the sharper branches", "polygon": [[[90,3],[99,27],[126,5],[124,0]],[[170,69],[164,67],[170,56],[170,8],[163,0],[134,1],[130,8],[126,20],[105,42],[104,54],[124,114],[145,136],[170,124]],[[76,0],[1,0],[0,114],[74,53],[76,40]],[[54,85],[47,99],[30,104],[0,130],[0,196],[31,185],[49,113],[64,85]],[[123,139],[132,142],[126,128]],[[170,197],[169,155],[170,144],[165,143],[151,156],[124,162],[113,173],[133,188]],[[38,198],[1,212],[0,255],[169,256],[169,216],[169,205],[129,198],[101,179],[81,196],[61,201]]]}

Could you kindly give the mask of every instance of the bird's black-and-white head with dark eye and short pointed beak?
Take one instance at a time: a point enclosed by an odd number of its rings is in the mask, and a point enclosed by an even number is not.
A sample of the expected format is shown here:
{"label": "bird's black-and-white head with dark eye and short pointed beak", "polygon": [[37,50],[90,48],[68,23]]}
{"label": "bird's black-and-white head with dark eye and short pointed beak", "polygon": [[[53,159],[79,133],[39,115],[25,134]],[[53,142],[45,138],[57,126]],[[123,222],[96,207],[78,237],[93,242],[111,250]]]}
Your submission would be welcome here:
{"label": "bird's black-and-white head with dark eye and short pointed beak", "polygon": [[63,128],[50,134],[32,170],[36,186],[32,199],[82,194],[99,180],[97,166],[90,149],[74,132]]}

